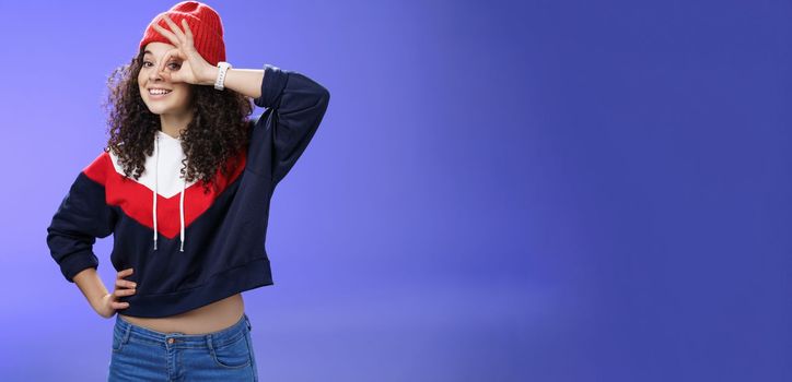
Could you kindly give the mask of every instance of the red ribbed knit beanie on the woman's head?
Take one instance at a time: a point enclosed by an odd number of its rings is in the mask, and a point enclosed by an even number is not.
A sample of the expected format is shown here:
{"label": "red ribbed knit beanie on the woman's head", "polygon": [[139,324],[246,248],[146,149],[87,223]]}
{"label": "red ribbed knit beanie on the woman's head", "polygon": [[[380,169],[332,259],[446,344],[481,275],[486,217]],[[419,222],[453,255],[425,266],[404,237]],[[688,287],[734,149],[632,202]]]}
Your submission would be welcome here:
{"label": "red ribbed knit beanie on the woman's head", "polygon": [[[187,25],[193,32],[195,48],[205,60],[213,65],[217,65],[220,61],[225,61],[223,23],[220,21],[220,15],[211,7],[198,1],[182,1],[152,19],[145,28],[143,38],[140,40],[140,49],[143,49],[149,43],[173,45],[167,37],[161,35],[153,27],[154,20],[163,14],[167,14],[183,32],[182,20],[187,21]],[[171,26],[164,19],[160,20],[159,24],[165,31],[171,31]]]}

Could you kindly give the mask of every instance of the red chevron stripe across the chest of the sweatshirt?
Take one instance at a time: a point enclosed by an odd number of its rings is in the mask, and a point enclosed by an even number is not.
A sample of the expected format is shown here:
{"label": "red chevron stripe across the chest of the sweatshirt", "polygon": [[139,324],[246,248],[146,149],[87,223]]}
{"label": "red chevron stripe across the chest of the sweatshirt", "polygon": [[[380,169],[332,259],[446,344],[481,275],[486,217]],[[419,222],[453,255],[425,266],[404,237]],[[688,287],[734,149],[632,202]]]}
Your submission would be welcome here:
{"label": "red chevron stripe across the chest of the sweatshirt", "polygon": [[[218,191],[211,190],[203,193],[205,182],[202,180],[198,180],[185,190],[185,228],[189,227],[196,218],[203,214],[218,195],[242,174],[246,159],[245,151],[242,151],[236,158],[233,158],[231,162],[236,163],[236,165],[228,177],[223,177],[218,169],[216,172]],[[135,181],[135,179],[125,178],[124,175],[118,174],[113,167],[109,153],[103,152],[83,169],[83,172],[97,183],[104,184],[105,202],[108,205],[120,206],[129,217],[152,230],[154,229],[153,200],[151,199],[153,192],[148,187]],[[160,194],[156,196],[156,230],[168,239],[173,239],[180,232],[179,194],[177,193],[171,198],[164,198]]]}

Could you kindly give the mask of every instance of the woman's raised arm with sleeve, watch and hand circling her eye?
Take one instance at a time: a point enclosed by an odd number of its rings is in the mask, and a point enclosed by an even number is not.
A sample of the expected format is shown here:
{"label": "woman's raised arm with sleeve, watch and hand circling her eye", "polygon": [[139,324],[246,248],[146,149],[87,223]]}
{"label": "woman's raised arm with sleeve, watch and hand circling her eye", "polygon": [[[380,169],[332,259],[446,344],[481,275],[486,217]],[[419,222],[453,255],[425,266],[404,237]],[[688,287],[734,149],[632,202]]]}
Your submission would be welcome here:
{"label": "woman's raised arm with sleeve, watch and hand circling her eye", "polygon": [[[151,26],[177,49],[171,50],[165,59],[161,60],[159,71],[173,81],[212,85],[220,69],[217,64],[209,63],[195,48],[188,23],[182,20],[183,31],[166,14],[162,19],[171,31],[161,26],[159,20]],[[166,72],[171,56],[184,59],[184,65],[189,70]],[[256,88],[258,84],[260,89]],[[327,109],[330,93],[296,71],[281,70],[271,64],[265,64],[264,70],[231,68],[225,73],[223,86],[253,97],[257,106],[269,109],[254,127],[245,169],[265,178],[269,177],[275,187],[289,172],[313,138]],[[253,160],[255,162],[251,166]]]}

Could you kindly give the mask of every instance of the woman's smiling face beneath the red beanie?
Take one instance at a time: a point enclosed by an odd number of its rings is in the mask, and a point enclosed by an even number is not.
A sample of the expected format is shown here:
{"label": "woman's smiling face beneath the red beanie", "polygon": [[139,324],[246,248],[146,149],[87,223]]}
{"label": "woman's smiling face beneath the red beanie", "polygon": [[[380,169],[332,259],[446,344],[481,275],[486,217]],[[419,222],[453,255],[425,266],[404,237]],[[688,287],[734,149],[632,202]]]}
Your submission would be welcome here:
{"label": "woman's smiling face beneath the red beanie", "polygon": [[[138,85],[140,86],[140,96],[143,98],[143,103],[155,115],[182,115],[189,110],[190,85],[186,82],[167,82],[156,71],[165,53],[174,48],[176,47],[165,43],[151,43],[144,48],[145,56],[143,56],[142,67],[138,74]],[[165,71],[174,72],[180,67],[180,61],[171,57],[167,65],[165,65]],[[163,94],[162,89],[165,91],[165,94]]]}

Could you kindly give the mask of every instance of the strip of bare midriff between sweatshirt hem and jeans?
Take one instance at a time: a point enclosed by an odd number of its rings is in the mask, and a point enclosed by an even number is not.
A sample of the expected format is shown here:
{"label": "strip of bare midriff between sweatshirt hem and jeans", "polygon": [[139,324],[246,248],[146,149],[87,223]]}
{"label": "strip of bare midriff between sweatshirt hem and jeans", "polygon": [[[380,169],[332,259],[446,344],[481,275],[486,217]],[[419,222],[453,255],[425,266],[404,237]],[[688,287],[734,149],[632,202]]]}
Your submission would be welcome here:
{"label": "strip of bare midriff between sweatshirt hem and jeans", "polygon": [[242,294],[226,297],[207,306],[163,318],[141,318],[121,314],[127,322],[162,333],[207,334],[237,323],[245,312]]}

